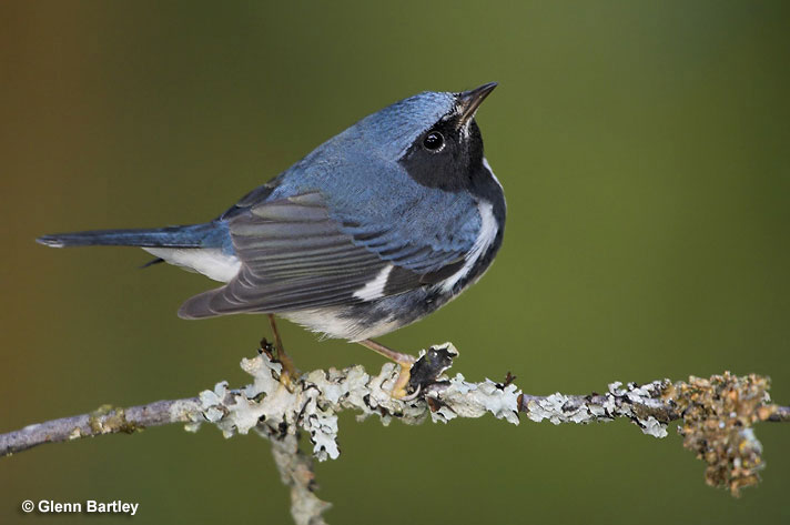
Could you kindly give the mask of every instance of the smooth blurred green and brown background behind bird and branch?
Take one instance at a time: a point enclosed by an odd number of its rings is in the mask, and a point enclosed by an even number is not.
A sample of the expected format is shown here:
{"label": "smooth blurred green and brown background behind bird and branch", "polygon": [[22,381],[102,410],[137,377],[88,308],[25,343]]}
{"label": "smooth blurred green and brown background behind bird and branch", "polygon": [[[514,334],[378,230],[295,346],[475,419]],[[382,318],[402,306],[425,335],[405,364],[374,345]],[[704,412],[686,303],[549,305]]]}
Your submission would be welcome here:
{"label": "smooth blurred green and brown background behind bird and branch", "polygon": [[[37,235],[205,221],[397,99],[492,80],[478,122],[504,249],[462,299],[382,341],[452,340],[457,372],[512,371],[535,394],[731,370],[770,374],[790,403],[789,7],[3,2],[0,432],[242,384],[266,333],[262,316],[178,319],[205,277]],[[282,330],[303,370],[382,365]],[[790,428],[758,436],[763,483],[732,499],[673,428],[345,415],[320,496],[347,524],[787,523]],[[0,522],[55,518],[22,515],[26,498],[138,502],[139,523],[290,519],[267,443],[212,427],[1,460]]]}

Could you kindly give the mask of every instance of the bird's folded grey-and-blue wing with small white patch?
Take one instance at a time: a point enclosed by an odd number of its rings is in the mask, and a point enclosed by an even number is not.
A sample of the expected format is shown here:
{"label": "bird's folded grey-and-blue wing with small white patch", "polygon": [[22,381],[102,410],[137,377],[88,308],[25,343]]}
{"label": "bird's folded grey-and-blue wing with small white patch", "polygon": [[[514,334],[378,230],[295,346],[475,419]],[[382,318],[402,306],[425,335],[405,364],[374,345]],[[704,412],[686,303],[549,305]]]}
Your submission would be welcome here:
{"label": "bird's folded grey-and-blue wing with small white patch", "polygon": [[442,232],[413,236],[399,218],[377,226],[344,223],[317,192],[259,202],[229,223],[241,270],[225,286],[188,300],[179,312],[183,317],[288,312],[395,295],[455,273],[474,244],[474,236],[464,243],[454,232],[444,240]]}

